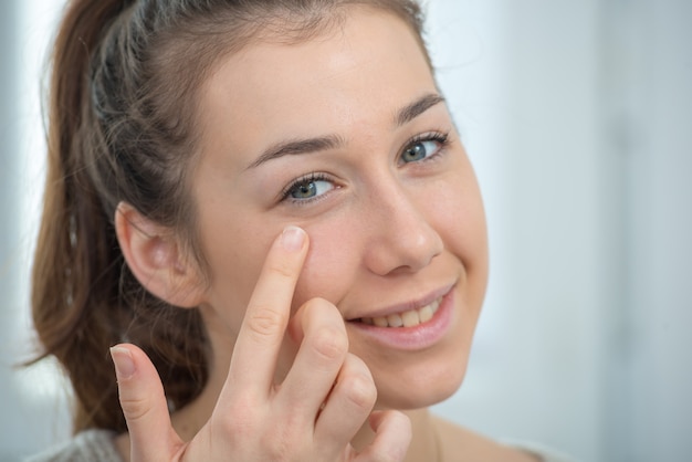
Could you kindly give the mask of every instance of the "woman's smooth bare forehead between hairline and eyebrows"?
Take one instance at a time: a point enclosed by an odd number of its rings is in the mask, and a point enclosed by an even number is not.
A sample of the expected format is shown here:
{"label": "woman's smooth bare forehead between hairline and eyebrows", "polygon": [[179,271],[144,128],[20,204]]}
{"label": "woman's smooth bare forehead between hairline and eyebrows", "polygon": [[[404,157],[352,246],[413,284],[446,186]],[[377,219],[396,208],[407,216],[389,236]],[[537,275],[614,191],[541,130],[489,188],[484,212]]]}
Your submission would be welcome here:
{"label": "woman's smooth bare forehead between hairline and eyebrows", "polygon": [[[258,144],[390,124],[436,84],[408,25],[357,11],[328,34],[266,42],[227,56],[202,87],[205,150],[256,151]],[[260,148],[261,149],[261,148]]]}

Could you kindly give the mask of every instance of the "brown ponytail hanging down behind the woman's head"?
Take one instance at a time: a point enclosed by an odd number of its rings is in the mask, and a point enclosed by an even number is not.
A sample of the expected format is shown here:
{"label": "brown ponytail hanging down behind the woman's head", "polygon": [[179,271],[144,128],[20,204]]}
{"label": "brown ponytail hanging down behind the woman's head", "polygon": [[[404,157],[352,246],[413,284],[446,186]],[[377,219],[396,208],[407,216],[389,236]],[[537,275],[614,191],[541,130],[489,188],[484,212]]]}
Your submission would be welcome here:
{"label": "brown ponytail hanging down behind the woman's head", "polygon": [[[54,355],[75,391],[74,430],[124,430],[108,347],[120,340],[123,259],[88,178],[91,60],[123,0],[69,3],[55,40],[49,94],[48,176],[32,274],[33,322],[42,356]],[[115,283],[114,283],[115,282]],[[104,317],[104,311],[109,316]],[[125,319],[122,319],[126,322]],[[115,323],[113,323],[115,322]],[[104,367],[105,366],[105,367]]]}

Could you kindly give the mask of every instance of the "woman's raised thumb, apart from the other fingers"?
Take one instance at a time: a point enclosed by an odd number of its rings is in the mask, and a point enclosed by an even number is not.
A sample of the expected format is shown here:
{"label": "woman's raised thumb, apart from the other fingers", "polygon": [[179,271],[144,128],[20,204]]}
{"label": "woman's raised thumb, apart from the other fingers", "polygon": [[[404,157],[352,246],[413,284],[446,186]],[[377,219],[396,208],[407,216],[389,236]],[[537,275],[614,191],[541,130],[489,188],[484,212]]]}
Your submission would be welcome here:
{"label": "woman's raised thumb, apart from the other fingers", "polygon": [[129,432],[130,461],[170,461],[182,442],[171,427],[156,368],[141,349],[130,344],[112,347],[111,357]]}

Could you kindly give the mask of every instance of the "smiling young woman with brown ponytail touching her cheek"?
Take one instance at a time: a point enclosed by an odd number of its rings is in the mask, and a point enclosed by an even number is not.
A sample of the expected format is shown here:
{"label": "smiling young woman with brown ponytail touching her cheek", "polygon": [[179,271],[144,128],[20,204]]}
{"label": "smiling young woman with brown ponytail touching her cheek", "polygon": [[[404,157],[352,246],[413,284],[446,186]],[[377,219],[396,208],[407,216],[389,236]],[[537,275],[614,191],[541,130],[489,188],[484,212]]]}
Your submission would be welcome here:
{"label": "smiling young woman with brown ponytail touching her cheek", "polygon": [[33,309],[77,435],[36,460],[541,460],[426,410],[463,379],[487,250],[421,23],[70,3]]}

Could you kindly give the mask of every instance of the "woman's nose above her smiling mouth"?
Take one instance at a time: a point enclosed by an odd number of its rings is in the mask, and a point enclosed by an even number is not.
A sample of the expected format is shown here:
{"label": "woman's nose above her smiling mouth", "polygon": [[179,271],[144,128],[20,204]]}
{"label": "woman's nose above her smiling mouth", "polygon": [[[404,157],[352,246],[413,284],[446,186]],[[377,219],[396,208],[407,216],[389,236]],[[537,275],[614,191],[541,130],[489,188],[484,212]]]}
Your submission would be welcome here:
{"label": "woman's nose above her smiling mouth", "polygon": [[415,273],[440,254],[443,242],[423,209],[424,201],[413,201],[402,188],[370,196],[366,214],[369,230],[365,264],[379,275]]}

